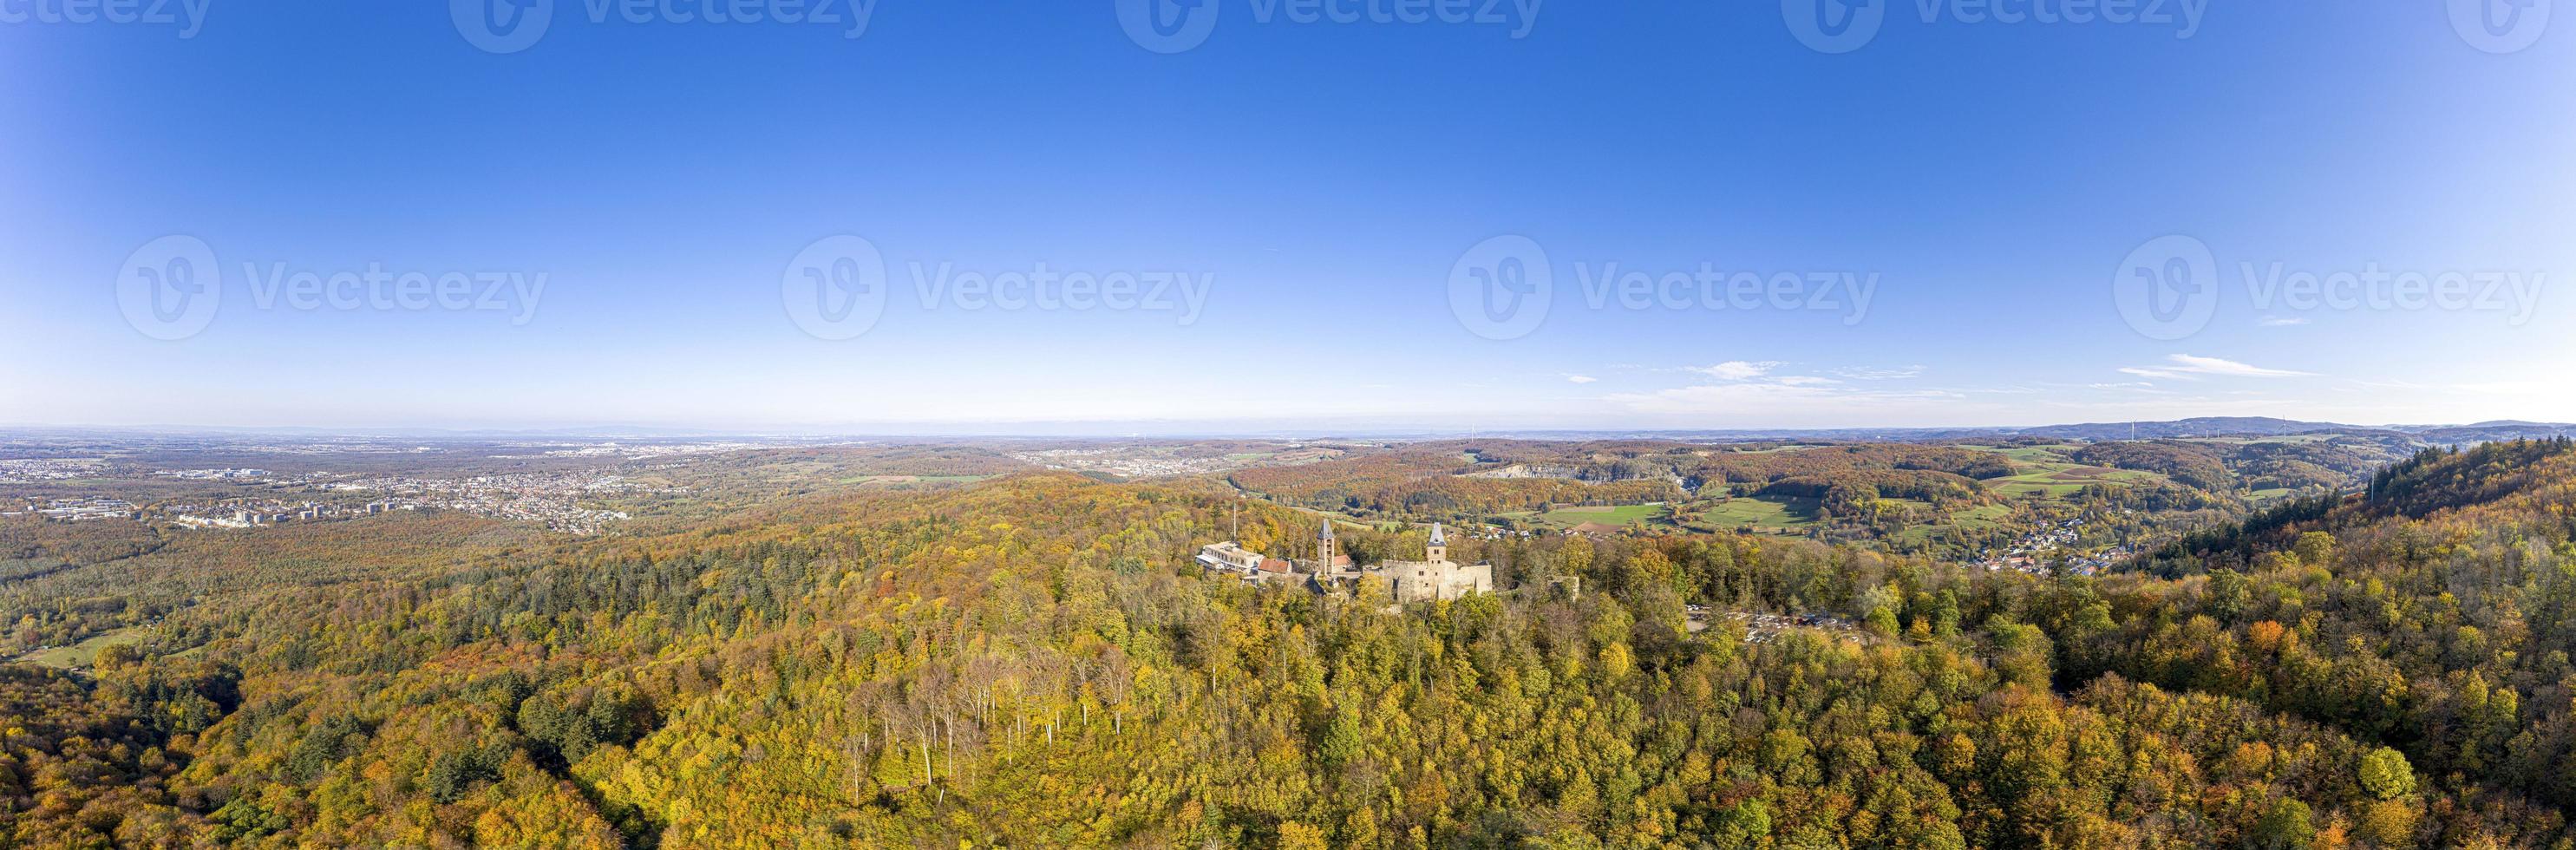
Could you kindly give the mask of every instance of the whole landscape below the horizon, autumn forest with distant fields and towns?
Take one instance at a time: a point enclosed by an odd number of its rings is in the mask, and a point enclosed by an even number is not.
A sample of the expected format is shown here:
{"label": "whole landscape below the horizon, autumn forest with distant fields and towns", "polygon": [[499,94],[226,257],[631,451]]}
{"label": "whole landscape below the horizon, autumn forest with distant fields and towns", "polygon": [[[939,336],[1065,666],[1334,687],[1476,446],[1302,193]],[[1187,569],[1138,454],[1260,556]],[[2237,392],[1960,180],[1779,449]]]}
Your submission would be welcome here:
{"label": "whole landscape below the horizon, autumn forest with distant fields and towns", "polygon": [[[392,464],[98,448],[62,448],[82,479],[10,487],[240,487],[131,461],[188,453],[299,479],[528,464],[471,443]],[[1038,464],[976,440],[765,443],[556,451],[546,474],[659,487],[598,495],[631,515],[587,533],[466,510],[21,515],[0,523],[0,711],[33,726],[0,747],[52,778],[0,806],[21,829],[116,806],[118,832],[327,845],[2566,837],[2576,798],[2543,765],[2576,757],[2576,726],[2545,706],[2576,670],[2524,649],[2576,647],[2558,582],[2532,585],[2576,556],[2555,520],[2576,451],[2396,448],[1092,443]],[[2293,495],[2254,487],[2293,474]],[[1365,582],[1188,559],[1229,538],[1309,556],[1319,515],[1363,567],[1453,523],[1494,590],[1381,610],[1340,603],[1383,592]],[[2455,556],[2519,603],[2442,603],[2460,585],[2427,585],[2409,549],[2434,528],[2470,531]],[[2532,536],[2548,546],[2506,543]],[[1587,706],[1613,713],[1569,726]],[[149,752],[77,744],[80,724]],[[2205,768],[2112,770],[2084,734]],[[2081,804],[2107,788],[2195,819]]]}

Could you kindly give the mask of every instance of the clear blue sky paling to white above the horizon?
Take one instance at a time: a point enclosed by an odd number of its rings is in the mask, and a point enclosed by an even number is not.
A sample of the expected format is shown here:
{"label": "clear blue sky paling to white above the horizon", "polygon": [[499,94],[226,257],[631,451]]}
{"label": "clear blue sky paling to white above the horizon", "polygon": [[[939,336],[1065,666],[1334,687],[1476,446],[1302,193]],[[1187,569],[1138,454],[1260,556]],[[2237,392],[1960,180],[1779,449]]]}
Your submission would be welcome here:
{"label": "clear blue sky paling to white above the horizon", "polygon": [[0,0],[0,422],[2576,420],[2550,0],[157,3]]}

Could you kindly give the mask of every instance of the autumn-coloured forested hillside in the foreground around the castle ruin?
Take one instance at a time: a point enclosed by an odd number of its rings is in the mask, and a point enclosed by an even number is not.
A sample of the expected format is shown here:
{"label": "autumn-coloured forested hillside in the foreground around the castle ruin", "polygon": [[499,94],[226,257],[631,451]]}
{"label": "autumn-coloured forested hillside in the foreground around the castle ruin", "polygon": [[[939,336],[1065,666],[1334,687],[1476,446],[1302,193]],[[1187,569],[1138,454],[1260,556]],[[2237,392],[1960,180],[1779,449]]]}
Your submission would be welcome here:
{"label": "autumn-coloured forested hillside in the foreground around the castle ruin", "polygon": [[1015,474],[170,562],[137,649],[0,667],[0,845],[2571,847],[2566,440],[2102,580],[1543,536],[1455,541],[1507,592],[1399,616],[1200,577],[1234,507]]}

